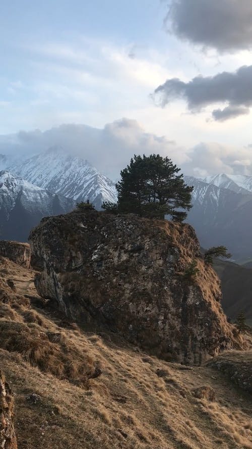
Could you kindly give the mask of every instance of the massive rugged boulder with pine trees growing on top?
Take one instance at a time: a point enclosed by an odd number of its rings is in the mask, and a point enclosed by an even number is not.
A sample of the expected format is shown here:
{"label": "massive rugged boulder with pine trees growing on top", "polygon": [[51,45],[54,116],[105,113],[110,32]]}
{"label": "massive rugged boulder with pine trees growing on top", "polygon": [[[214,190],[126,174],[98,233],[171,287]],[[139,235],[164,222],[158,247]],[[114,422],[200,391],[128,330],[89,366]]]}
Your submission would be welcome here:
{"label": "massive rugged boulder with pine trees growing on top", "polygon": [[[221,309],[219,279],[185,224],[78,212],[30,234],[38,293],[81,324],[119,332],[165,360],[201,364],[240,347]],[[198,264],[195,279],[184,272]]]}

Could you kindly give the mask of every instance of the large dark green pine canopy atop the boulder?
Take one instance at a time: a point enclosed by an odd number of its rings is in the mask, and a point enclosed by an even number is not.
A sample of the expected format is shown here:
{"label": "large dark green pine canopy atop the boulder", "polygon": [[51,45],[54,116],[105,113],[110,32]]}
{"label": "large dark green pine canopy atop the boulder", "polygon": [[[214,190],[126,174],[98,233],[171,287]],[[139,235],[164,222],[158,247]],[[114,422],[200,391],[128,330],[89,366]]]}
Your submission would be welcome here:
{"label": "large dark green pine canopy atop the boulder", "polygon": [[141,217],[182,221],[191,209],[193,187],[184,183],[183,175],[167,157],[134,156],[130,165],[120,172],[116,184],[118,202],[104,203],[109,212],[135,213]]}

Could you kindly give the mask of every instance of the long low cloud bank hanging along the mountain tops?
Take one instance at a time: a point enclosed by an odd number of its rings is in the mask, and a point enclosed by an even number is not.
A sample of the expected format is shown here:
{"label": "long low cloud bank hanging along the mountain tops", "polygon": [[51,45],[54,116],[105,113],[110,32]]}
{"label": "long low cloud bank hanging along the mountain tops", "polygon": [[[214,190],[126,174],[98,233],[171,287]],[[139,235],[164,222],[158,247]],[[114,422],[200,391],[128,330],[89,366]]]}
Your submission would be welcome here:
{"label": "long low cloud bank hanging along the mountain tops", "polygon": [[22,160],[54,145],[66,153],[87,159],[111,179],[134,154],[168,156],[186,175],[205,177],[217,173],[252,176],[252,147],[232,147],[202,142],[191,149],[166,137],[147,133],[135,120],[123,118],[104,128],[65,124],[47,131],[20,131],[0,136],[0,154],[19,155]]}

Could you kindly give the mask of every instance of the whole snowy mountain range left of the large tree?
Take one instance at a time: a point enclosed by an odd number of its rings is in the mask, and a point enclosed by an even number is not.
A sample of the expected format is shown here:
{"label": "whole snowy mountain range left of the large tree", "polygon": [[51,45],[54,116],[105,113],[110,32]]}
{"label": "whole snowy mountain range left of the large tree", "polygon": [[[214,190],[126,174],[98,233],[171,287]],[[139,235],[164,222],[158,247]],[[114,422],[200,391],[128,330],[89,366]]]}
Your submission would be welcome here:
{"label": "whole snowy mountain range left of the large tree", "polygon": [[88,161],[59,147],[27,160],[0,155],[0,239],[27,241],[42,217],[64,214],[77,202],[101,209],[117,201],[114,183]]}

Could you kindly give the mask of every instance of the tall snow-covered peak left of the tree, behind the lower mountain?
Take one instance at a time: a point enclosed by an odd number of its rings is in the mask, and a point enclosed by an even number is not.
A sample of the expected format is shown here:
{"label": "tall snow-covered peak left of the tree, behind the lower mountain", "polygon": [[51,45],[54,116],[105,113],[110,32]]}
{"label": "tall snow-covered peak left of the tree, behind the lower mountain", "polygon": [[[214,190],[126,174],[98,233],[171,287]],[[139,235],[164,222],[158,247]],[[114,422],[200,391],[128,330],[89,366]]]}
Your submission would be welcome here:
{"label": "tall snow-covered peak left of the tree, behind the lower mountain", "polygon": [[110,179],[88,161],[67,155],[60,147],[50,148],[10,169],[38,187],[77,202],[89,199],[96,209],[101,208],[103,201],[116,202],[117,192]]}

